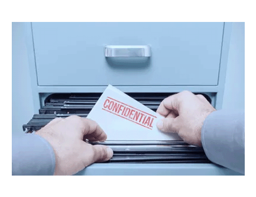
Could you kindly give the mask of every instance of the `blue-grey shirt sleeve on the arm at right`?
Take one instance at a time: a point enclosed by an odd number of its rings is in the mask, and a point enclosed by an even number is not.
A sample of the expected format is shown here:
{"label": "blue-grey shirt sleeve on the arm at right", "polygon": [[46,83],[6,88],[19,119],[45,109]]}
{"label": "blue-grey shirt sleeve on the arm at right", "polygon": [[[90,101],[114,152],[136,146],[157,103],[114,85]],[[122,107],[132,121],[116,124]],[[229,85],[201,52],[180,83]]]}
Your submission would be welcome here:
{"label": "blue-grey shirt sleeve on the arm at right", "polygon": [[203,124],[201,139],[209,160],[245,174],[245,113],[218,110]]}

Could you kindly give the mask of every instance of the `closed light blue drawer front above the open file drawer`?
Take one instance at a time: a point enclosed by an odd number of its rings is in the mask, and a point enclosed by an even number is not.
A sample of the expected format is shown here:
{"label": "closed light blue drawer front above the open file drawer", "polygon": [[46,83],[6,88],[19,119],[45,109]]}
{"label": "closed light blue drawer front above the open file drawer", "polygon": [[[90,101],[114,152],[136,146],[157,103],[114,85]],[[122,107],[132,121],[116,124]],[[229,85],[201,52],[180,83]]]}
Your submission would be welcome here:
{"label": "closed light blue drawer front above the open file drawer", "polygon": [[[224,22],[32,22],[39,86],[218,85]],[[150,45],[151,57],[105,57]]]}

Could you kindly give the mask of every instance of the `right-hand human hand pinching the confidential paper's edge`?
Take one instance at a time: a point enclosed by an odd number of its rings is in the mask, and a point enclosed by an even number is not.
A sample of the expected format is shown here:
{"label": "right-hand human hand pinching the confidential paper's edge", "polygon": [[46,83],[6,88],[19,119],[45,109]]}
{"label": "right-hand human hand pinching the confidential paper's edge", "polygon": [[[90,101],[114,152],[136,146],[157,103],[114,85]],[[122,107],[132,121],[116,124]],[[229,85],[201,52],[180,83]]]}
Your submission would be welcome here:
{"label": "right-hand human hand pinching the confidential paper's edge", "polygon": [[163,132],[177,133],[188,144],[202,146],[203,122],[213,111],[216,109],[202,94],[182,91],[161,102],[157,113],[165,118],[157,122],[157,128]]}

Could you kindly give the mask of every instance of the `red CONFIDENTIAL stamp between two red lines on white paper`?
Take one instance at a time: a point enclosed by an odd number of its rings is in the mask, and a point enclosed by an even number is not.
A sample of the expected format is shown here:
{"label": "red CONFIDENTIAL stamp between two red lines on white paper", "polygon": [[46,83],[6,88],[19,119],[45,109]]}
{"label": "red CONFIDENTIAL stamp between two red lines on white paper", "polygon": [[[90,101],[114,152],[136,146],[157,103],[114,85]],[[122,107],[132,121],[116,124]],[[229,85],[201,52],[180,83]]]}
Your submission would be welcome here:
{"label": "red CONFIDENTIAL stamp between two red lines on white paper", "polygon": [[130,120],[140,126],[143,126],[147,129],[153,128],[154,119],[156,116],[136,109],[130,105],[112,99],[111,97],[107,97],[103,103],[102,110],[113,113],[119,117],[122,117],[126,120]]}

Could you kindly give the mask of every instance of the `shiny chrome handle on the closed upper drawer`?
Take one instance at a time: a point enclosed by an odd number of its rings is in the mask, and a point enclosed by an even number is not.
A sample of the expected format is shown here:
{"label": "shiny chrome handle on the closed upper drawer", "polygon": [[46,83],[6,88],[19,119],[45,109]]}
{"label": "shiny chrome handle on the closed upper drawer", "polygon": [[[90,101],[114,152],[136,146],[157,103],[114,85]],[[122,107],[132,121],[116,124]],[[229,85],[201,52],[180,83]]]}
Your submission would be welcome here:
{"label": "shiny chrome handle on the closed upper drawer", "polygon": [[106,45],[105,57],[150,57],[150,45]]}

